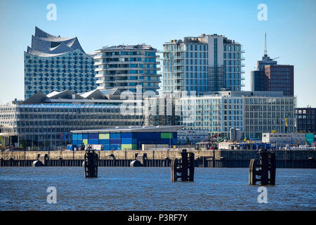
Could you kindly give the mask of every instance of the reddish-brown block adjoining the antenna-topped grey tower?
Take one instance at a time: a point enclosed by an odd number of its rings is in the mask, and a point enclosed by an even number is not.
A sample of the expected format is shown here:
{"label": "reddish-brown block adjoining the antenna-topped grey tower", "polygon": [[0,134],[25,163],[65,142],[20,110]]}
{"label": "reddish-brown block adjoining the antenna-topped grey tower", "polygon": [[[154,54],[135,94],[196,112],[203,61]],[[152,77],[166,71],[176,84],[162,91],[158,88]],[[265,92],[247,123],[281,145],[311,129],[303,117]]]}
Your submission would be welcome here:
{"label": "reddish-brown block adjoining the antenna-topped grey tower", "polygon": [[283,91],[286,96],[294,96],[294,65],[265,65],[268,91]]}

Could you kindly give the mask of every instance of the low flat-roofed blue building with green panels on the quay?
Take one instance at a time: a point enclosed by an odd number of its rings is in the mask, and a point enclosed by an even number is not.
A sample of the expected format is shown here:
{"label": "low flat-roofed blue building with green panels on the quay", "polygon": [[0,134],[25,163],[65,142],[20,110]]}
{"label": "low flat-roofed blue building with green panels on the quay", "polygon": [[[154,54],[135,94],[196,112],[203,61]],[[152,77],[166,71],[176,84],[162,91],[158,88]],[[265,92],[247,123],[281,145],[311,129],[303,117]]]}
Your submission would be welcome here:
{"label": "low flat-roofed blue building with green panels on the quay", "polygon": [[177,131],[184,126],[114,127],[72,131],[72,145],[101,145],[103,150],[140,150],[142,145],[177,145]]}

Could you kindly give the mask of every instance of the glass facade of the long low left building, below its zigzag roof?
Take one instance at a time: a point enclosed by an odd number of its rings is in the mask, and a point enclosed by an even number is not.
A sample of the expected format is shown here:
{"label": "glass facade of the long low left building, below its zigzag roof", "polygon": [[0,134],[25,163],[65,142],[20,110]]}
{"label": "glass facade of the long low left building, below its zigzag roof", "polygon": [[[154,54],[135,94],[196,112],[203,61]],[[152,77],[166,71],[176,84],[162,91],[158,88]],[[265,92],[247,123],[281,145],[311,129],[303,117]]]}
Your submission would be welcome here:
{"label": "glass facade of the long low left building, below its zigzag roof", "polygon": [[45,103],[0,105],[0,133],[40,150],[65,147],[71,130],[141,126],[143,115],[122,115],[119,105]]}

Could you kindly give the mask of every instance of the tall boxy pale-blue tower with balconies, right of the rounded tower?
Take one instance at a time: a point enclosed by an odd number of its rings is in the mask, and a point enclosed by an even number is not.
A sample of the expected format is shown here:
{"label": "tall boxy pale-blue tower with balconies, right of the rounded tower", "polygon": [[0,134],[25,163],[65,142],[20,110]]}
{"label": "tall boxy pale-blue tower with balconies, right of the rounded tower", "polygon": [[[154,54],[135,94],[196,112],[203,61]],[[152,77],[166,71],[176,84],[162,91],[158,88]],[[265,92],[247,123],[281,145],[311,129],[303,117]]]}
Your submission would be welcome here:
{"label": "tall boxy pale-blue tower with balconies, right of the rounded tower", "polygon": [[241,91],[242,45],[223,35],[202,34],[164,44],[164,91]]}

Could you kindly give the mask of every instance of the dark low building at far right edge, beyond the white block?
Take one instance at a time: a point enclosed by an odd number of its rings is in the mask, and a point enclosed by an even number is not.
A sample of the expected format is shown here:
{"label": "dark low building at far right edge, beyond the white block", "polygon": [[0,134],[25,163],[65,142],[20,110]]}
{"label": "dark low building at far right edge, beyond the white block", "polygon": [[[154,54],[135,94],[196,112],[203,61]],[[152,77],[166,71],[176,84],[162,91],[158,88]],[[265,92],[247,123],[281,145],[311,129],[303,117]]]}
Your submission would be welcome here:
{"label": "dark low building at far right edge, beyond the white block", "polygon": [[298,132],[316,134],[316,108],[296,108]]}

